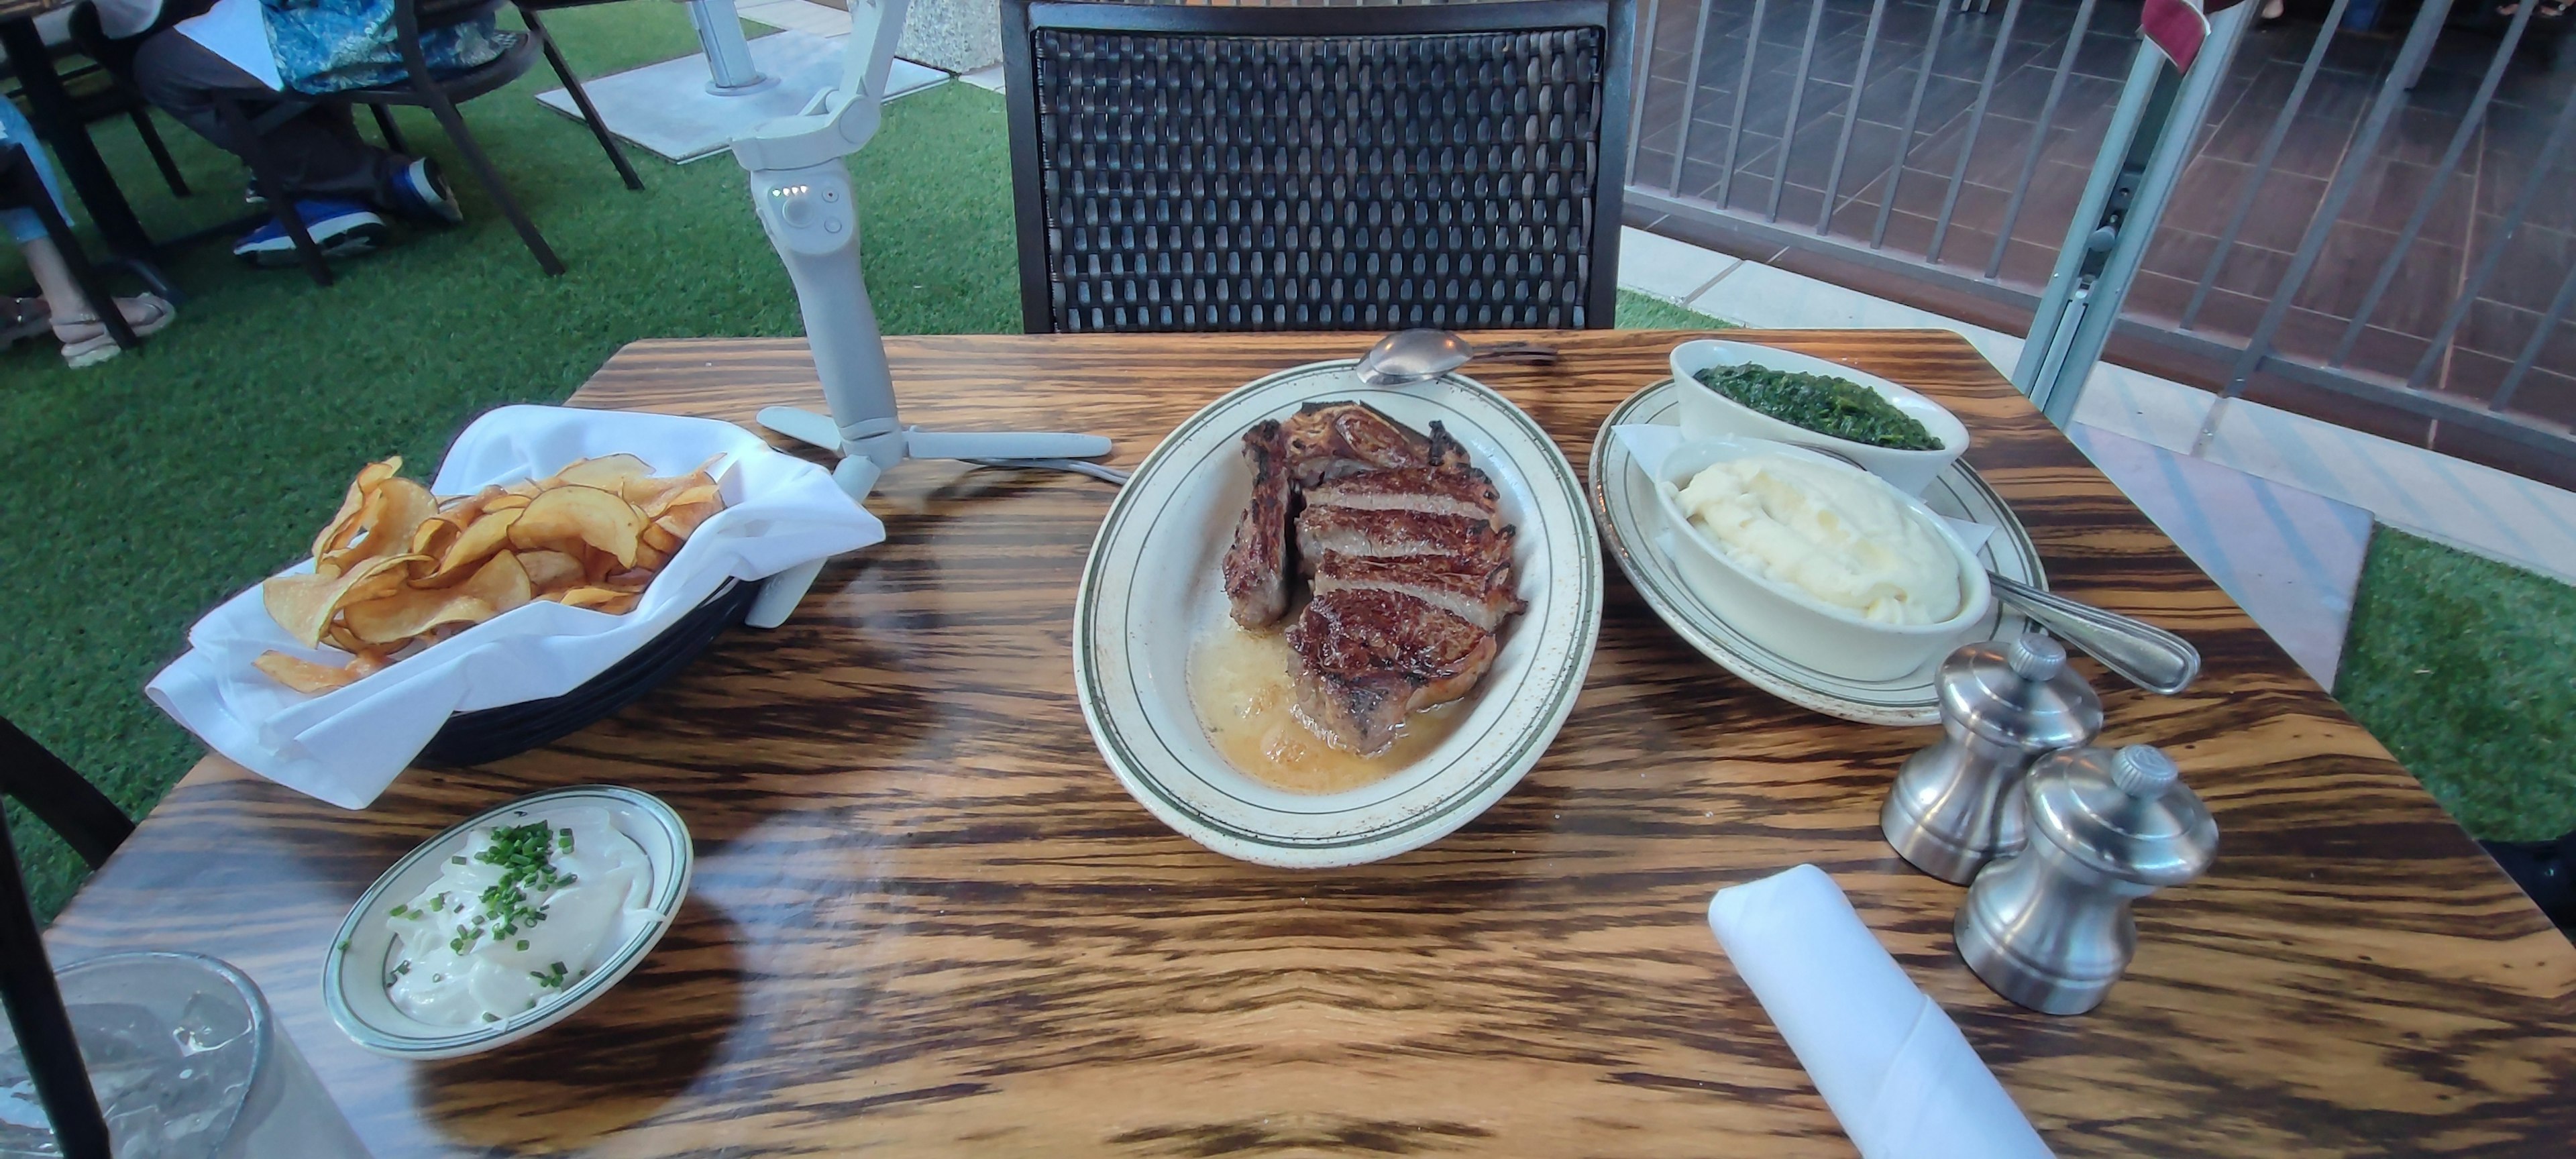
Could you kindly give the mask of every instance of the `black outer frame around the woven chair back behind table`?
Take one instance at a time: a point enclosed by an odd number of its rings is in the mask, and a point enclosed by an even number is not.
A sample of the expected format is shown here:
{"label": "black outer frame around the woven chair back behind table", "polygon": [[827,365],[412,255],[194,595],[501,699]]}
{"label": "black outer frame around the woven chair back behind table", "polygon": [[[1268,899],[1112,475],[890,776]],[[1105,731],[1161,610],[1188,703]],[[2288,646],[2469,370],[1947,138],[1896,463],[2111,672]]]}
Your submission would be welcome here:
{"label": "black outer frame around the woven chair back behind table", "polygon": [[[1054,332],[1054,245],[1048,245],[1046,165],[1036,85],[1038,31],[1097,31],[1133,36],[1203,39],[1363,39],[1440,33],[1528,33],[1600,28],[1602,88],[1597,98],[1597,162],[1589,180],[1595,206],[1584,232],[1589,276],[1582,286],[1587,327],[1610,327],[1618,306],[1618,237],[1625,193],[1631,126],[1631,67],[1636,59],[1633,0],[1515,0],[1386,8],[1213,8],[1002,0],[1002,75],[1010,95],[1012,214],[1020,240],[1020,319],[1033,335]],[[1340,330],[1340,327],[1334,327]]]}

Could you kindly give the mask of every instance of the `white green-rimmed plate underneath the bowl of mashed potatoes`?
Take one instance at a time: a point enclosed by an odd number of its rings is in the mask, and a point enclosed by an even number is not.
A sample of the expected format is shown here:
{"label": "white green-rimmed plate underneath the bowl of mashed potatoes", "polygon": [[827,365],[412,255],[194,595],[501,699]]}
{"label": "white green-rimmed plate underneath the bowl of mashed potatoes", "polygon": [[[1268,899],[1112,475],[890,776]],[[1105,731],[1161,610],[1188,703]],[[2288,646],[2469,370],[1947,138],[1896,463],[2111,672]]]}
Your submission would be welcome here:
{"label": "white green-rimmed plate underneath the bowl of mashed potatoes", "polygon": [[[1602,546],[1610,549],[1610,559],[1618,559],[1620,572],[1628,572],[1628,582],[1646,598],[1646,605],[1718,667],[1788,703],[1860,724],[1940,724],[1940,693],[1932,688],[1940,657],[1888,680],[1847,680],[1819,672],[1747,639],[1682,580],[1682,572],[1656,546],[1664,515],[1654,497],[1654,479],[1610,435],[1610,428],[1623,425],[1674,428],[1680,407],[1682,391],[1674,389],[1672,379],[1664,379],[1620,402],[1592,440],[1592,505],[1600,510]],[[2040,551],[2030,546],[2022,520],[1965,461],[1942,469],[1924,487],[1922,502],[1937,515],[1994,528],[1994,536],[1976,551],[1994,574],[2048,587]],[[1960,641],[2012,639],[2025,631],[2030,631],[2030,621],[2007,608],[2004,600],[1994,600],[1986,618],[1968,628]]]}

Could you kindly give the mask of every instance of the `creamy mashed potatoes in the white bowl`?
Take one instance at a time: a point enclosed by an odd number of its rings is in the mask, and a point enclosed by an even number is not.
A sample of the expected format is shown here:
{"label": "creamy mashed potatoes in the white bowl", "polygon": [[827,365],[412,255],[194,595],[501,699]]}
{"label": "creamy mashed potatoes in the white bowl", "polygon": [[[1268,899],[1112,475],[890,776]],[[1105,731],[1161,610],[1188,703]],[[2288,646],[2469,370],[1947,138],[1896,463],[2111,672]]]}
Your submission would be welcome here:
{"label": "creamy mashed potatoes in the white bowl", "polygon": [[1940,623],[1965,603],[1950,543],[1865,471],[1747,456],[1690,476],[1677,502],[1736,564],[1865,621]]}

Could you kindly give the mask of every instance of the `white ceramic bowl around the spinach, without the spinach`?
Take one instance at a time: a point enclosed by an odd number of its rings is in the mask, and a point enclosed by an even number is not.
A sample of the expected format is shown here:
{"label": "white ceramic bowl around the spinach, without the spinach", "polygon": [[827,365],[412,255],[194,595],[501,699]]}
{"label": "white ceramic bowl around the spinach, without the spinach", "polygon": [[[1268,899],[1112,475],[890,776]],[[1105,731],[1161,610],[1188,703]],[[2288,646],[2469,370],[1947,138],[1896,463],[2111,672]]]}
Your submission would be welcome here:
{"label": "white ceramic bowl around the spinach, without the spinach", "polygon": [[[1806,430],[1795,422],[1783,422],[1762,415],[1759,410],[1744,407],[1698,379],[1698,371],[1710,366],[1744,363],[1772,371],[1826,373],[1868,386],[1896,404],[1896,410],[1922,422],[1924,430],[1940,440],[1940,451],[1899,451]],[[1896,484],[1896,489],[1906,495],[1922,495],[1924,487],[1932,487],[1935,476],[1947,471],[1950,464],[1968,451],[1968,428],[1960,425],[1958,415],[1942,410],[1940,402],[1896,386],[1875,373],[1829,363],[1816,355],[1775,350],[1754,343],[1698,337],[1672,348],[1672,381],[1682,389],[1682,433],[1690,438],[1770,438],[1775,443],[1821,446]]]}

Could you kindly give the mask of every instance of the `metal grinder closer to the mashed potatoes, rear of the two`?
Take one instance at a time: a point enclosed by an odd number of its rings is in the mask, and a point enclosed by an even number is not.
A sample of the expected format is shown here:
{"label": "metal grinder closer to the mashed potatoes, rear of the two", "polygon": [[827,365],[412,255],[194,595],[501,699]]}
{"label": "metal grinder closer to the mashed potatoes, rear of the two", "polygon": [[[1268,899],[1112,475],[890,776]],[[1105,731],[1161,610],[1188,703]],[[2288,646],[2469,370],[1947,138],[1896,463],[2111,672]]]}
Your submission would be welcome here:
{"label": "metal grinder closer to the mashed potatoes, rear of the two", "polygon": [[1945,737],[1896,770],[1878,829],[1914,868],[1965,886],[2022,850],[2020,811],[2007,809],[2022,775],[2040,755],[2094,739],[2102,698],[2040,634],[1960,646],[1935,685]]}

